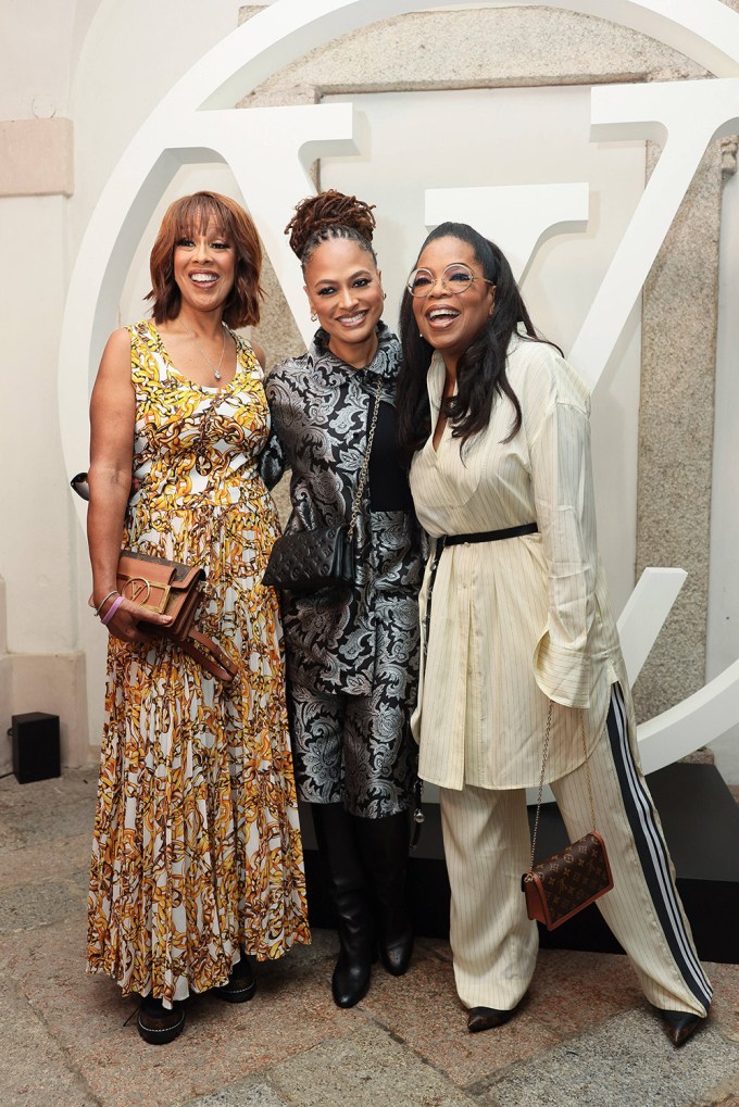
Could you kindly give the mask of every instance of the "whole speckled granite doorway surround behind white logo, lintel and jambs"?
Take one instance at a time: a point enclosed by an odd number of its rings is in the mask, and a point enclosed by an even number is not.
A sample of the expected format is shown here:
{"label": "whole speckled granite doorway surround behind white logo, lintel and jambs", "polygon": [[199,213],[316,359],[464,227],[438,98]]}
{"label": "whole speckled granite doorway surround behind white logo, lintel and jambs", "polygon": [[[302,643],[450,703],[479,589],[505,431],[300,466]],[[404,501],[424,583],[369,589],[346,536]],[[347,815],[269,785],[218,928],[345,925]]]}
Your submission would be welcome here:
{"label": "whole speckled granite doorway surround behind white logo, lintel and jambs", "polygon": [[[729,0],[739,10],[739,0]],[[245,8],[243,18],[258,10]],[[402,74],[402,76],[399,76]],[[677,81],[691,59],[607,20],[557,9],[404,15],[337,39],[276,73],[243,106],[328,93]],[[653,152],[653,157],[656,152]],[[645,286],[637,572],[689,577],[635,692],[648,718],[704,684],[721,149],[706,154]],[[260,338],[270,361],[300,349],[273,275]],[[287,509],[285,489],[278,492]]]}

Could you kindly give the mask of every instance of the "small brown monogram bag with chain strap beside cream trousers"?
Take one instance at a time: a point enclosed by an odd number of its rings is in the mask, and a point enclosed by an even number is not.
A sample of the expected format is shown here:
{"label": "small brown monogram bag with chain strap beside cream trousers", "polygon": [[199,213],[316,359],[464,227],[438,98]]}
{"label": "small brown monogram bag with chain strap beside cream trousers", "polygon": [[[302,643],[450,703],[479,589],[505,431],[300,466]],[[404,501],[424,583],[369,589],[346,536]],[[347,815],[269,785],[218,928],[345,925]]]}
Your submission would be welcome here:
{"label": "small brown monogram bag with chain strap beside cream trousers", "polygon": [[591,801],[591,818],[593,830],[579,838],[558,853],[553,853],[544,861],[534,863],[536,855],[536,835],[538,817],[542,808],[544,790],[544,772],[550,751],[550,733],[552,731],[552,703],[546,717],[546,734],[544,735],[544,756],[542,758],[542,776],[538,782],[538,798],[536,800],[536,820],[531,847],[531,868],[521,878],[521,887],[526,897],[526,911],[530,919],[544,923],[547,930],[555,930],[567,919],[589,907],[601,896],[609,892],[614,886],[608,863],[606,846],[596,830],[595,805],[593,803],[593,785],[591,766],[587,759],[585,743],[585,725],[583,713],[579,713],[579,732],[583,736],[583,755],[587,773],[587,794]]}

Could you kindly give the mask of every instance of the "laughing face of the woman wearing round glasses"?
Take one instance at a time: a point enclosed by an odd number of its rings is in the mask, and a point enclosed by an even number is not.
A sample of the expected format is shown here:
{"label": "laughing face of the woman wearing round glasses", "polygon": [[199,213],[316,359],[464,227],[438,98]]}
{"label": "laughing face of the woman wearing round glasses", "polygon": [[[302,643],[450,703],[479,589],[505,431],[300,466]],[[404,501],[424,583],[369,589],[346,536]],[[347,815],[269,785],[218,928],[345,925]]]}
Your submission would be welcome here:
{"label": "laughing face of the woman wearing round glasses", "polygon": [[[474,280],[463,292],[448,292],[438,278],[449,266],[462,262]],[[429,294],[413,298],[413,315],[427,342],[439,350],[448,370],[456,363],[493,313],[495,288],[489,283],[469,242],[460,238],[435,238],[428,244],[417,268],[428,269],[437,278]],[[448,282],[453,287],[453,281]]]}

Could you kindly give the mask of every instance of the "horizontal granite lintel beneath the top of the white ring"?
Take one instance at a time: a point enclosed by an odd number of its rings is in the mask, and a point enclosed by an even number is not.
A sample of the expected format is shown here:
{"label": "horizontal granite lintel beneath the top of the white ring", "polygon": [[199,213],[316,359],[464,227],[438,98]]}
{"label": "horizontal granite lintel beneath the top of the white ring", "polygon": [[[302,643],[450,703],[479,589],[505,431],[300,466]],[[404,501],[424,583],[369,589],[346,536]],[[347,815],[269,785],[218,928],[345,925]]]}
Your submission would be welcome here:
{"label": "horizontal granite lintel beneath the top of the white ring", "polygon": [[[254,14],[256,9],[245,9]],[[701,76],[668,46],[591,15],[495,8],[401,15],[336,39],[274,74],[267,92],[490,89]]]}

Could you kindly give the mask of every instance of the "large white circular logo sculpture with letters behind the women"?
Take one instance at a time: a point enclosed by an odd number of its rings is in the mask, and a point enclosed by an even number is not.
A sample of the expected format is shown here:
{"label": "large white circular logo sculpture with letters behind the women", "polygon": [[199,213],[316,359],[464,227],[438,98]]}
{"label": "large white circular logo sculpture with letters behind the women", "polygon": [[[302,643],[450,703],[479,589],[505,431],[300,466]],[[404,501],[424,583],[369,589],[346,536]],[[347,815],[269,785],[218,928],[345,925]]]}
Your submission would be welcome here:
{"label": "large white circular logo sculpture with letters behind the women", "polygon": [[[739,14],[719,0],[505,0],[556,7],[620,23],[692,58],[716,79],[605,85],[591,93],[593,141],[658,138],[651,174],[571,353],[597,387],[642,286],[712,139],[739,131]],[[223,159],[233,170],[298,328],[312,334],[302,279],[283,235],[285,213],[314,190],[314,159],[357,153],[351,104],[230,105],[279,68],[368,23],[464,0],[277,0],[209,51],[172,89],[131,142],[103,190],[74,266],[60,351],[60,418],[69,472],[88,442],[88,400],[131,258],[177,169]],[[491,4],[493,7],[494,4]],[[269,167],[260,175],[255,164]],[[428,189],[425,221],[471,223],[494,237],[525,277],[538,246],[588,217],[587,184]],[[535,203],[532,203],[532,197]],[[494,215],[491,215],[494,213]],[[504,218],[502,217],[504,213]],[[421,234],[422,228],[419,228]],[[81,358],[81,351],[84,351]],[[79,505],[82,518],[83,505]],[[647,569],[619,620],[632,681],[644,663],[685,572]],[[739,720],[739,661],[695,695],[639,726],[646,772],[711,742]]]}

